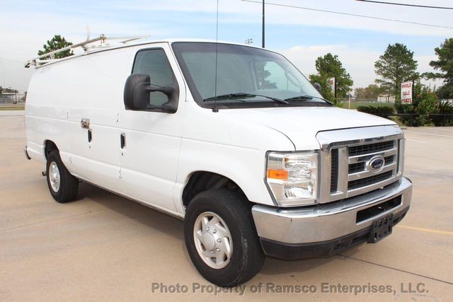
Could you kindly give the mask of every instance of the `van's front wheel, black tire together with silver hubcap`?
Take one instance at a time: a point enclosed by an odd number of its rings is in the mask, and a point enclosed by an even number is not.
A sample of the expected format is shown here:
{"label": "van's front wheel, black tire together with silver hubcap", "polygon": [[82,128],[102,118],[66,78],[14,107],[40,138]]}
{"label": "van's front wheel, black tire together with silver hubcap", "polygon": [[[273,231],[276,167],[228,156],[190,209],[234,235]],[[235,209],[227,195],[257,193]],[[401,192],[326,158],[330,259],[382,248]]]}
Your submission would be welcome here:
{"label": "van's front wheel, black tire together with silver hubcap", "polygon": [[218,286],[236,286],[263,267],[251,206],[231,190],[197,194],[185,214],[185,245],[205,279]]}

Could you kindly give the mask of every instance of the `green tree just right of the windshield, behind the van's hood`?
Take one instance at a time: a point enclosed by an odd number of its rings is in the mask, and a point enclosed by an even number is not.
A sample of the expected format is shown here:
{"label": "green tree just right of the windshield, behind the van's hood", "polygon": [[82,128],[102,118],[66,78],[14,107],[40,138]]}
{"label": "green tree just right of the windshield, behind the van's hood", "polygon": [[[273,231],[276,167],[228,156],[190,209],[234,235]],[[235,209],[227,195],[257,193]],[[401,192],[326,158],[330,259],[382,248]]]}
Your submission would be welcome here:
{"label": "green tree just right of the windshield, behind the van's hood", "polygon": [[[321,85],[324,98],[336,103],[337,98],[346,98],[348,96],[354,81],[352,81],[350,74],[343,67],[340,59],[338,59],[338,55],[333,55],[329,52],[323,57],[318,57],[315,66],[318,74],[311,74],[309,79],[311,83],[319,83]],[[336,98],[328,85],[328,79],[332,77],[336,78]]]}

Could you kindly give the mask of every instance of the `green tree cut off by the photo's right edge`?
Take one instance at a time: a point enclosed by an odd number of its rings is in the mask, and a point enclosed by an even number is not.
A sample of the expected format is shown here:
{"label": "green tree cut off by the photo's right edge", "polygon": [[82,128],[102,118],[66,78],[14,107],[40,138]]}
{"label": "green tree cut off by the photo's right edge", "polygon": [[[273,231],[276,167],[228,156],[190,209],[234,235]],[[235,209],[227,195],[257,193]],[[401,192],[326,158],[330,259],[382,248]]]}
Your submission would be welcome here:
{"label": "green tree cut off by the photo's right edge", "polygon": [[453,38],[445,39],[445,42],[440,47],[436,47],[434,51],[439,59],[431,61],[430,66],[440,72],[427,73],[425,76],[428,79],[443,79],[444,85],[437,89],[437,96],[453,98]]}

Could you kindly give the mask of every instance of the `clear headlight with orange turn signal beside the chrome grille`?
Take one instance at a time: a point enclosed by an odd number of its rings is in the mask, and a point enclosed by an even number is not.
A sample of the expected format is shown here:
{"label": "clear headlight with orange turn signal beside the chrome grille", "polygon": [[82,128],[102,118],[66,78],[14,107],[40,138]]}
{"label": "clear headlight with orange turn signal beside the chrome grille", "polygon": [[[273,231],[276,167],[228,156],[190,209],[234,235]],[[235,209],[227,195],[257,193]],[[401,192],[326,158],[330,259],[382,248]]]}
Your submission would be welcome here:
{"label": "clear headlight with orange turn signal beside the chrome grille", "polygon": [[318,191],[318,153],[270,152],[266,181],[281,207],[315,204]]}

